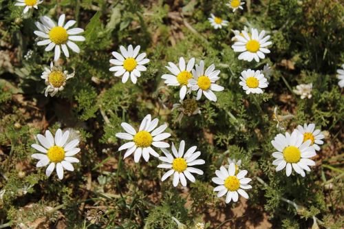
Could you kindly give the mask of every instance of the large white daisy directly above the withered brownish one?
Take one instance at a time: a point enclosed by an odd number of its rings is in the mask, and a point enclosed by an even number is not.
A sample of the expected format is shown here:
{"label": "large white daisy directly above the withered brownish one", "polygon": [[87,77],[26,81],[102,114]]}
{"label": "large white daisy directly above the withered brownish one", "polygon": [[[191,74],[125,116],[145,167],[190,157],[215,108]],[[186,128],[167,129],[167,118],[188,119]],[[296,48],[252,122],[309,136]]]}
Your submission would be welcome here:
{"label": "large white daisy directly above the withered brownish one", "polygon": [[[84,32],[81,28],[69,29],[76,23],[74,20],[69,20],[65,23],[65,14],[61,14],[58,18],[58,23],[52,21],[50,17],[44,16],[40,18],[42,23],[36,21],[34,23],[39,30],[34,31],[34,34],[45,39],[39,41],[37,45],[47,45],[45,51],[49,52],[55,47],[54,61],[57,61],[61,56],[61,49],[66,57],[69,57],[69,51],[67,46],[73,50],[73,52],[79,53],[80,49],[73,41],[85,41],[84,36],[74,36]],[[65,24],[65,25],[64,25]],[[64,25],[64,26],[63,26]]]}

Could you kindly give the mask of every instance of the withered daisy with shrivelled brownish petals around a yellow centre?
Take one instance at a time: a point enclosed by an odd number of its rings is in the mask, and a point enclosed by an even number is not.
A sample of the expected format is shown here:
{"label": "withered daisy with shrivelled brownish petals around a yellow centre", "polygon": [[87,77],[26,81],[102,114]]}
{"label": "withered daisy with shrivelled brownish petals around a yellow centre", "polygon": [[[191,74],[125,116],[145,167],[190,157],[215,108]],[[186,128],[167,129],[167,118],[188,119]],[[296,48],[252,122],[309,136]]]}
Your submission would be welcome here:
{"label": "withered daisy with shrivelled brownish petals around a yellow centre", "polygon": [[42,73],[41,78],[45,80],[45,97],[47,94],[50,96],[55,96],[58,91],[62,91],[65,88],[66,81],[69,78],[74,77],[74,72],[68,74],[67,71],[63,71],[61,67],[55,67],[54,63],[50,63],[50,69],[45,67],[45,71]]}

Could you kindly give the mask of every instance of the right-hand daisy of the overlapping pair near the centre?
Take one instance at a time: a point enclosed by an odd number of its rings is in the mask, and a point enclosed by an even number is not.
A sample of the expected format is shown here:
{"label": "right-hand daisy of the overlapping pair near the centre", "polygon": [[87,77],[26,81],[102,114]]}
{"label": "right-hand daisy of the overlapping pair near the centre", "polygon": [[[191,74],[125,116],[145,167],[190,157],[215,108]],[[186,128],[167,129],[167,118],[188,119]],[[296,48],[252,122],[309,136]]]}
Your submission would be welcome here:
{"label": "right-hand daisy of the overlapping pair near the centre", "polygon": [[210,65],[204,72],[204,61],[200,65],[196,65],[196,69],[192,70],[193,78],[189,80],[191,90],[197,91],[196,100],[199,100],[202,93],[208,100],[216,102],[217,98],[213,91],[223,91],[224,87],[215,84],[219,80],[219,70],[215,70],[215,65]]}

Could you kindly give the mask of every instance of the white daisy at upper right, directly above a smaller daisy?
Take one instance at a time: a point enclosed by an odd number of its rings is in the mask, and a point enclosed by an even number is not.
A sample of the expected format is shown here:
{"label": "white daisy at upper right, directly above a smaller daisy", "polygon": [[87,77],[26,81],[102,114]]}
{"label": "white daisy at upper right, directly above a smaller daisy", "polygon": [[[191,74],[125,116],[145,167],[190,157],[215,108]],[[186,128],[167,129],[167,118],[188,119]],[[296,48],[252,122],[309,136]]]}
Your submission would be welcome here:
{"label": "white daisy at upper right, directly above a smaller daisy", "polygon": [[255,59],[255,61],[259,62],[259,58],[265,58],[264,53],[270,53],[266,46],[271,45],[272,42],[268,41],[270,35],[264,37],[264,30],[258,34],[258,30],[252,28],[251,36],[244,30],[241,32],[242,35],[235,36],[237,41],[232,45],[234,52],[241,52],[238,56],[239,60],[250,62]]}

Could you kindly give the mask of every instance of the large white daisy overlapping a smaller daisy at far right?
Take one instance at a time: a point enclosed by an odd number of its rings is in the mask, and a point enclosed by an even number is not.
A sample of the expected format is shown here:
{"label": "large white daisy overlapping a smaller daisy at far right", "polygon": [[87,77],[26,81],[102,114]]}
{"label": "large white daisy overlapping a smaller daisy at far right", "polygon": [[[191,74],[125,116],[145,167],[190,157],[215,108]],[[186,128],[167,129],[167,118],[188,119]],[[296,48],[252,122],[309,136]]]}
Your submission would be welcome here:
{"label": "large white daisy overlapping a smaller daisy at far right", "polygon": [[309,159],[316,155],[311,143],[311,140],[303,142],[303,135],[297,130],[292,131],[291,135],[288,132],[286,135],[277,134],[275,140],[271,141],[272,146],[277,149],[277,152],[272,153],[272,157],[276,158],[272,162],[277,166],[276,171],[281,171],[286,167],[286,175],[289,177],[294,168],[295,172],[304,177],[305,171],[310,171],[308,166],[315,165],[315,162]]}

